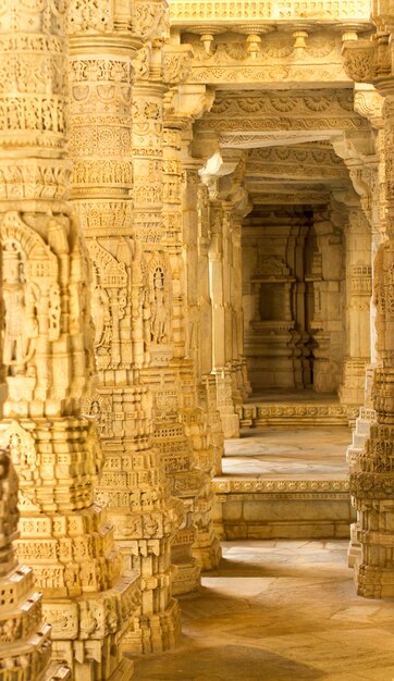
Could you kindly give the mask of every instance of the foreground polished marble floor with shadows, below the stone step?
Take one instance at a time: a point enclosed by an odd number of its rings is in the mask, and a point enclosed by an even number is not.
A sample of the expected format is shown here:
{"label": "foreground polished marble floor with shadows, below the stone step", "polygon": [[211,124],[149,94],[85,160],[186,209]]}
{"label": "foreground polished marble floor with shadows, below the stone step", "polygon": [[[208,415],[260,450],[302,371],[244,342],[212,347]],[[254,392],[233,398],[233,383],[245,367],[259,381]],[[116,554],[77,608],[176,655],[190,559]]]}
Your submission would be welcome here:
{"label": "foreground polished marble floor with shadows, below the stone step", "polygon": [[394,681],[394,600],[356,596],[345,541],[223,544],[180,647],[134,681]]}

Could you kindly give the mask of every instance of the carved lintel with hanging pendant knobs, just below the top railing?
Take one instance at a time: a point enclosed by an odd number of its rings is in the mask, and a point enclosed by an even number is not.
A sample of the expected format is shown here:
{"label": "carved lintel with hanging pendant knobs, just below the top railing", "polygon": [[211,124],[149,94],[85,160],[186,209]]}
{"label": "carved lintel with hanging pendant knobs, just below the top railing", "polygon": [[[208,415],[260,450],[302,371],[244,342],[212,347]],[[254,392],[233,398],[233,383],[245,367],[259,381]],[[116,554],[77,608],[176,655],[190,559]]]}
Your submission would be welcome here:
{"label": "carved lintel with hanging pendant knobs, just below the top railing", "polygon": [[[204,27],[187,28],[182,40],[194,47],[190,82],[273,89],[278,83],[288,87],[305,83],[317,89],[331,83],[347,87],[350,79],[342,63],[338,28],[328,30],[304,22],[282,30],[271,26],[270,32],[267,24],[250,23],[233,26],[231,33],[211,27],[211,33],[202,33],[200,40],[195,34],[204,32]],[[347,30],[349,26],[345,28],[344,36],[357,37]]]}

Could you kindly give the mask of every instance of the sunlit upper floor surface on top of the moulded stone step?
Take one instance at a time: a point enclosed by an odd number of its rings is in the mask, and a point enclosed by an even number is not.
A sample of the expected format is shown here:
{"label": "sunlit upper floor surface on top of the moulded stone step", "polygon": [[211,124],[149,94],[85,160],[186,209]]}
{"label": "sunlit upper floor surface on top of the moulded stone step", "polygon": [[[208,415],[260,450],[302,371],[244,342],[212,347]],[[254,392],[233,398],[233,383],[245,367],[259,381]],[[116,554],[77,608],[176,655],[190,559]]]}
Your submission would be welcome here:
{"label": "sunlit upper floor surface on top of the moulded stone step", "polygon": [[345,479],[347,428],[245,429],[225,442],[223,475],[254,479]]}

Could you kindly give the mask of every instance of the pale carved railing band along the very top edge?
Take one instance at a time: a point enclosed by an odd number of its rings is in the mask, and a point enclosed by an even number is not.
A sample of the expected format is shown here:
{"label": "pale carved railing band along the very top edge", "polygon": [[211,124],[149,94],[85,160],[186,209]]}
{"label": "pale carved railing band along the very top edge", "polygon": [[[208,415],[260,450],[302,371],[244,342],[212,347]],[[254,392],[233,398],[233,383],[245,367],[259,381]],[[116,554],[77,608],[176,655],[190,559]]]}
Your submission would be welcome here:
{"label": "pale carved railing band along the very top edge", "polygon": [[194,22],[369,22],[371,0],[171,0],[173,25]]}

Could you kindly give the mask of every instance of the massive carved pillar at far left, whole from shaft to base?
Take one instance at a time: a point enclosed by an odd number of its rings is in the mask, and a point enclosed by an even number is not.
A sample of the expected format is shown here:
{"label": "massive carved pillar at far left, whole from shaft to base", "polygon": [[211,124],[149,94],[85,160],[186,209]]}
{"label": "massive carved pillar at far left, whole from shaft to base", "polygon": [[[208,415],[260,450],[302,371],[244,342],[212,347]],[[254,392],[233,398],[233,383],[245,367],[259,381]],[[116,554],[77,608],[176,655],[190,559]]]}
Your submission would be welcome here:
{"label": "massive carved pillar at far left, whole from shaft to base", "polygon": [[95,502],[102,454],[81,414],[93,339],[87,259],[66,202],[66,18],[47,0],[1,14],[1,436],[21,481],[19,557],[44,594],[53,658],[74,681],[126,680],[133,665],[121,649],[139,587]]}

